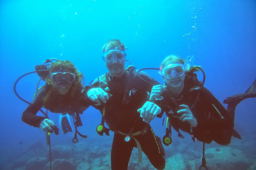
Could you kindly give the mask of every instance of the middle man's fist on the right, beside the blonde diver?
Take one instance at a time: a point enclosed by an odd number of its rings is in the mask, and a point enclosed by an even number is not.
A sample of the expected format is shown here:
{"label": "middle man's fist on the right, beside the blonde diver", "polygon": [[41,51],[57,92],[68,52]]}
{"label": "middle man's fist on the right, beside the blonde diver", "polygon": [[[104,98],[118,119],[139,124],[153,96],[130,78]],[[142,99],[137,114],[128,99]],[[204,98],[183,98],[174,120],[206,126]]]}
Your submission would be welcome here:
{"label": "middle man's fist on the right, beside the blonde diver", "polygon": [[158,114],[161,113],[161,109],[156,104],[147,101],[142,108],[138,109],[137,112],[140,113],[140,117],[143,118],[143,121],[149,123],[152,121]]}

